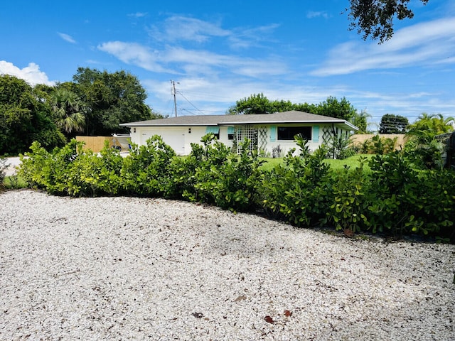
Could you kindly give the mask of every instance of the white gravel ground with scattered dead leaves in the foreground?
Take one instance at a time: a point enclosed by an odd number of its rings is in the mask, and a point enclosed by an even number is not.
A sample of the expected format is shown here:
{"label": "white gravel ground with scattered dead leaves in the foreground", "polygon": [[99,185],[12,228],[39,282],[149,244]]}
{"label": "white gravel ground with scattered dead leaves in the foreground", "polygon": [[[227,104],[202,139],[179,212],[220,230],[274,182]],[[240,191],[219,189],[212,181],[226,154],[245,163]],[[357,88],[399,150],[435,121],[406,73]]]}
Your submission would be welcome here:
{"label": "white gravel ground with scattered dead leaves in the foreground", "polygon": [[161,199],[0,207],[0,340],[455,340],[454,245]]}

